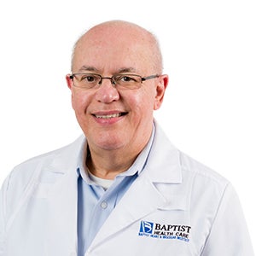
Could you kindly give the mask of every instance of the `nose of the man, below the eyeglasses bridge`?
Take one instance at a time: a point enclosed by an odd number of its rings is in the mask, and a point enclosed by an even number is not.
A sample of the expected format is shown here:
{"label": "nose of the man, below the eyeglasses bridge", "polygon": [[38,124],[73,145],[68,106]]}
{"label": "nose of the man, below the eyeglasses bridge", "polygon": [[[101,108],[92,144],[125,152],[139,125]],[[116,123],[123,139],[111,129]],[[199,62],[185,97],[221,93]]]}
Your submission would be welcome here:
{"label": "nose of the man, below the eyeglasses bridge", "polygon": [[102,79],[99,88],[96,90],[96,101],[102,103],[111,103],[119,100],[119,91],[116,85],[109,78]]}

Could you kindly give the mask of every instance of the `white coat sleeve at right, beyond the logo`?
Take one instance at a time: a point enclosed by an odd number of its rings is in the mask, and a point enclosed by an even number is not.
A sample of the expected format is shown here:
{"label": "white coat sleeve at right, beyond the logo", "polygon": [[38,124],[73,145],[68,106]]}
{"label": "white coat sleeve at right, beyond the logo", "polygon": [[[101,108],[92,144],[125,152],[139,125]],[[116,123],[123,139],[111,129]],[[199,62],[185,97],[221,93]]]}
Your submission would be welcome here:
{"label": "white coat sleeve at right, beyond the logo", "polygon": [[201,256],[253,256],[253,246],[235,189],[224,191]]}

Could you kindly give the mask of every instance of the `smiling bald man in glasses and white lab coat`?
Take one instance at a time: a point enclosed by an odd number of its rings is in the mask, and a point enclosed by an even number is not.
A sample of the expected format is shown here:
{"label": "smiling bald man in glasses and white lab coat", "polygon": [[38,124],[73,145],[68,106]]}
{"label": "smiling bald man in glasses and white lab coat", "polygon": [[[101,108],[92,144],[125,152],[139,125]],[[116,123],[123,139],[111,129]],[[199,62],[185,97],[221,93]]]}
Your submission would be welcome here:
{"label": "smiling bald man in glasses and white lab coat", "polygon": [[0,255],[253,255],[230,183],[154,121],[168,76],[150,32],[94,26],[66,79],[84,136],[6,179]]}

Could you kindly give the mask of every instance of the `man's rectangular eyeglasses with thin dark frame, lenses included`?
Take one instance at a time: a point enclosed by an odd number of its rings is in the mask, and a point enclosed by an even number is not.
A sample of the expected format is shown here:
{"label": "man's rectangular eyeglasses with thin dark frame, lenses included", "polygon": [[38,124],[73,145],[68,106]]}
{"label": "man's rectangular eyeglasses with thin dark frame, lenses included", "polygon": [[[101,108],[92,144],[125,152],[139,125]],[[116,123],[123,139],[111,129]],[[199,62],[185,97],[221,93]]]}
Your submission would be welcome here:
{"label": "man's rectangular eyeglasses with thin dark frame, lenses included", "polygon": [[[157,74],[145,78],[137,74],[115,74],[112,77],[102,77],[97,73],[73,73],[69,76],[69,78],[73,80],[74,86],[84,89],[95,88],[96,85],[102,84],[102,79],[110,79],[111,84],[115,86],[119,85],[127,89],[137,89],[141,86],[143,81],[158,77],[159,75]],[[74,78],[76,79],[76,83],[74,82]]]}

